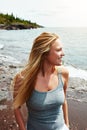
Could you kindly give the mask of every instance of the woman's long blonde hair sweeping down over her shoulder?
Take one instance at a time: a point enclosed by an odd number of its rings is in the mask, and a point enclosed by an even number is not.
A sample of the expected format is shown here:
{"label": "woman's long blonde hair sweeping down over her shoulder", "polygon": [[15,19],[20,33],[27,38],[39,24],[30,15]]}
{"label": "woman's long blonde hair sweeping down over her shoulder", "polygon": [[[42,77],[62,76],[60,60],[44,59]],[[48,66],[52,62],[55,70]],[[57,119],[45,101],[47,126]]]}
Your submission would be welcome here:
{"label": "woman's long blonde hair sweeping down over her shoulder", "polygon": [[34,90],[37,74],[44,62],[44,56],[50,51],[52,43],[58,38],[58,35],[54,33],[44,32],[34,40],[18,94],[14,99],[15,108],[21,106],[30,98]]}

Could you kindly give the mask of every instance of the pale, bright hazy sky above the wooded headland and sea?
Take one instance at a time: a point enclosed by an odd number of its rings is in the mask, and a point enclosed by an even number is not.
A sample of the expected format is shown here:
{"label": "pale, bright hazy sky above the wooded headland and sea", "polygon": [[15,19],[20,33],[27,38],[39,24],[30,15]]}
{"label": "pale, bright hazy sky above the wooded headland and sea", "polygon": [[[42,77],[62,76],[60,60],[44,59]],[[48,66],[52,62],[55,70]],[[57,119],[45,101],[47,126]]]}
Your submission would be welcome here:
{"label": "pale, bright hazy sky above the wooded headland and sea", "polygon": [[87,26],[87,0],[0,0],[0,13],[45,27]]}

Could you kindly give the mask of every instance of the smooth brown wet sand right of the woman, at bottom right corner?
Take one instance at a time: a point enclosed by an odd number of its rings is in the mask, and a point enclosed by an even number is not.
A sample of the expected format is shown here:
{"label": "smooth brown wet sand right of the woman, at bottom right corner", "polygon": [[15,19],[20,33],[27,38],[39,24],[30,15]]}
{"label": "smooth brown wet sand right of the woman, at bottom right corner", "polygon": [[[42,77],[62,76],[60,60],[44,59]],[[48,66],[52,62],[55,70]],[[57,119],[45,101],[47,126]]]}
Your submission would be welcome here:
{"label": "smooth brown wet sand right of the woman, at bottom right corner", "polygon": [[87,103],[68,100],[70,130],[87,130]]}

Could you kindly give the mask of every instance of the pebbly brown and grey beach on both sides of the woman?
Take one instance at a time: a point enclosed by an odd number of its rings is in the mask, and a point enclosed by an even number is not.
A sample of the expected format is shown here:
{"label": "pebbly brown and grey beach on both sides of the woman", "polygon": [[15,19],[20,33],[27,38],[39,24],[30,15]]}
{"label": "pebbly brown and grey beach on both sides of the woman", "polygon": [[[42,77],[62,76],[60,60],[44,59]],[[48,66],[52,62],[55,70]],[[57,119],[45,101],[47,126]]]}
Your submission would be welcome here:
{"label": "pebbly brown and grey beach on both sides of the woman", "polygon": [[[10,87],[14,75],[22,66],[17,63],[0,63],[0,130],[18,130],[12,107],[12,89]],[[67,89],[70,130],[87,130],[87,81],[70,78]],[[22,108],[26,122],[25,106]]]}

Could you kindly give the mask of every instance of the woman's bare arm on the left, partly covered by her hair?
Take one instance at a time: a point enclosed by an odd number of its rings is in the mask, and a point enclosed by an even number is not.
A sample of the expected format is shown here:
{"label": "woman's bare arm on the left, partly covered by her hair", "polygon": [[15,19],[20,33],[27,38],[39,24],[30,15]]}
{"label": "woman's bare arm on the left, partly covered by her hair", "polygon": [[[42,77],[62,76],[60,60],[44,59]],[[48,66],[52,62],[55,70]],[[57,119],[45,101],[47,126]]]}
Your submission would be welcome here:
{"label": "woman's bare arm on the left, partly covered by her hair", "polygon": [[[20,74],[18,74],[15,77],[15,81],[14,81],[13,98],[15,98],[16,95],[17,95],[17,91],[18,91],[19,86],[21,84],[21,80],[22,80],[22,78],[20,77]],[[19,126],[19,130],[26,130],[25,129],[25,123],[24,123],[23,115],[21,113],[21,107],[14,109],[14,114],[15,114],[16,122],[17,122],[17,124]]]}

